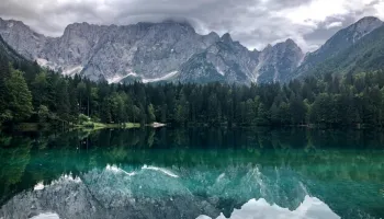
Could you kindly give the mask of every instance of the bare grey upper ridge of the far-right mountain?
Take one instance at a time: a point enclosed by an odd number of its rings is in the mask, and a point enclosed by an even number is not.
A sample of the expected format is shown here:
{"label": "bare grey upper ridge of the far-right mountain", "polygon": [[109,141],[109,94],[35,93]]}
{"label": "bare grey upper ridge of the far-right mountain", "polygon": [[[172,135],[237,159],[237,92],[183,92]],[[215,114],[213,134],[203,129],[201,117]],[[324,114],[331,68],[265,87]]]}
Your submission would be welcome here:
{"label": "bare grey upper ridge of the far-right mountain", "polygon": [[[295,76],[303,77],[317,69],[318,65],[327,59],[337,57],[361,39],[383,25],[383,22],[373,16],[366,16],[354,24],[337,32],[318,50],[306,55],[303,64],[298,67]],[[295,77],[293,76],[293,77]]]}

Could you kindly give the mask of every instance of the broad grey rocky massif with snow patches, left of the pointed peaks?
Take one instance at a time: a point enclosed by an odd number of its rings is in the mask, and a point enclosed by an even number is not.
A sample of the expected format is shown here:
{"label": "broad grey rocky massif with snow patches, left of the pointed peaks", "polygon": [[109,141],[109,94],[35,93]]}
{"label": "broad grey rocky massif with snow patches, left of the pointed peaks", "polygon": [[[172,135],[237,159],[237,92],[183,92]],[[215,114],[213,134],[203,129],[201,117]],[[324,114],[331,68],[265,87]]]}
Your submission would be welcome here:
{"label": "broad grey rocky massif with snow patches, left of the pointed peaks", "polygon": [[19,53],[39,65],[113,80],[139,74],[148,80],[177,70],[193,54],[219,37],[194,32],[185,23],[138,23],[128,26],[70,24],[57,38],[44,37],[21,22],[0,21],[0,34]]}

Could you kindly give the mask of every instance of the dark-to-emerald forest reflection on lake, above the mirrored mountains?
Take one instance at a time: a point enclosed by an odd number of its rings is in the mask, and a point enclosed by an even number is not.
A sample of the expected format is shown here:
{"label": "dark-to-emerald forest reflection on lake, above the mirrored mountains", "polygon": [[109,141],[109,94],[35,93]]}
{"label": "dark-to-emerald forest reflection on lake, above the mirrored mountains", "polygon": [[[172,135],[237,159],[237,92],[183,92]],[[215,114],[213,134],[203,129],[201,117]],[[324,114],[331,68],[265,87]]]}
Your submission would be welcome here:
{"label": "dark-to-emerald forest reflection on lake, above the mirrored mountains", "polygon": [[[366,207],[370,196],[381,195],[384,182],[384,136],[380,132],[168,128],[75,131],[56,137],[2,135],[0,145],[1,203],[37,182],[49,183],[65,173],[81,175],[108,164],[291,169],[316,197],[330,203],[355,198],[365,200],[361,205]],[[377,187],[376,193],[360,197],[354,191],[361,183]],[[324,195],[328,191],[350,195]]]}

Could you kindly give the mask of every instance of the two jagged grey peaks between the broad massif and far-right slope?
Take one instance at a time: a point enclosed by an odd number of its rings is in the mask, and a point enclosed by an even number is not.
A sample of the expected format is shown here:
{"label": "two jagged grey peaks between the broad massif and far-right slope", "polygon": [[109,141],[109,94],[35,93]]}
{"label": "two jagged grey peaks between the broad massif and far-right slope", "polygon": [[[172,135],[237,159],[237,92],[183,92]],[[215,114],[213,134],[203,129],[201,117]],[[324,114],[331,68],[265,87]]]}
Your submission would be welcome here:
{"label": "two jagged grey peaks between the broad massif and far-right slope", "polygon": [[302,49],[292,39],[269,46],[262,51],[249,51],[238,42],[233,42],[229,34],[225,34],[205,53],[183,65],[181,72],[187,76],[182,76],[181,81],[189,81],[188,76],[199,72],[200,76],[214,74],[215,80],[230,83],[276,82],[285,80],[302,58]]}

